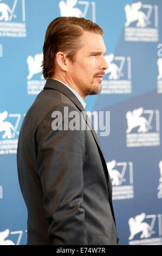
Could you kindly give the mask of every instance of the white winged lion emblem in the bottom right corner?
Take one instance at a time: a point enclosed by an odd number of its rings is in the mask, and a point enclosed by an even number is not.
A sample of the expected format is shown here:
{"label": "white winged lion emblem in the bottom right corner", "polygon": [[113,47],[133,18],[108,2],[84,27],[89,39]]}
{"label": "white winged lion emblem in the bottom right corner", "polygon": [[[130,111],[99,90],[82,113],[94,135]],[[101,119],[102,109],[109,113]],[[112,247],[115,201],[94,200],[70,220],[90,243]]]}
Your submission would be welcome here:
{"label": "white winged lion emblem in the bottom right corner", "polygon": [[129,230],[131,235],[129,236],[129,240],[132,240],[133,237],[142,232],[140,238],[148,238],[151,237],[155,232],[152,230],[150,225],[147,222],[142,222],[146,217],[146,214],[142,212],[142,214],[135,216],[135,218],[129,218]]}

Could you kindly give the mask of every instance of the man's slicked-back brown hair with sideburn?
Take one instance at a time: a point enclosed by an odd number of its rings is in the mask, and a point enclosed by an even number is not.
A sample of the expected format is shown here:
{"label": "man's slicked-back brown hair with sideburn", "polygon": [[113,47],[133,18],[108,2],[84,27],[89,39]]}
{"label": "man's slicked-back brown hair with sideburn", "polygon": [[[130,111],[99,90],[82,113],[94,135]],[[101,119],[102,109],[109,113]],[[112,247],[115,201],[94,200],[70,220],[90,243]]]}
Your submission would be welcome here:
{"label": "man's slicked-back brown hair with sideburn", "polygon": [[43,45],[43,76],[45,79],[54,74],[56,53],[62,51],[74,62],[75,54],[81,47],[81,35],[84,31],[103,35],[96,23],[77,17],[57,17],[46,31]]}

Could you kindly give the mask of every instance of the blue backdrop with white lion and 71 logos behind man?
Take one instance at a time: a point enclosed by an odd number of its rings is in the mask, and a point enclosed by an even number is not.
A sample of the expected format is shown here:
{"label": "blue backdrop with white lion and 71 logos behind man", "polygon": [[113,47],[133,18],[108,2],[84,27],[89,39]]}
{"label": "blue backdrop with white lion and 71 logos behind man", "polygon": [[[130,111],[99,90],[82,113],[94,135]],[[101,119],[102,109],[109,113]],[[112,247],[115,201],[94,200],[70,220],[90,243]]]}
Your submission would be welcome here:
{"label": "blue backdrop with white lion and 71 logos behind man", "polygon": [[58,16],[86,17],[104,31],[109,69],[100,95],[86,98],[94,117],[109,111],[99,140],[113,183],[120,245],[162,245],[161,0],[0,1],[0,245],[25,245],[27,209],[16,149],[22,120],[45,80],[42,47]]}

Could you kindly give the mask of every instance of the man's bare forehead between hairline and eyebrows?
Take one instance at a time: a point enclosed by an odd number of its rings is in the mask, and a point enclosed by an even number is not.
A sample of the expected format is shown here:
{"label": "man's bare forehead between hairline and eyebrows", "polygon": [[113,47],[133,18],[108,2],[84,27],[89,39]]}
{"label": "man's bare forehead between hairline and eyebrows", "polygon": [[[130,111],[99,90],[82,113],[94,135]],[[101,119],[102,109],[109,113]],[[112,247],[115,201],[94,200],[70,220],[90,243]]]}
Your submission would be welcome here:
{"label": "man's bare forehead between hairline and eyebrows", "polygon": [[82,51],[86,51],[86,52],[96,51],[96,52],[103,52],[103,53],[106,52],[106,46],[103,41],[102,35],[85,31],[82,37],[83,37]]}

